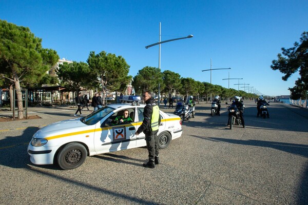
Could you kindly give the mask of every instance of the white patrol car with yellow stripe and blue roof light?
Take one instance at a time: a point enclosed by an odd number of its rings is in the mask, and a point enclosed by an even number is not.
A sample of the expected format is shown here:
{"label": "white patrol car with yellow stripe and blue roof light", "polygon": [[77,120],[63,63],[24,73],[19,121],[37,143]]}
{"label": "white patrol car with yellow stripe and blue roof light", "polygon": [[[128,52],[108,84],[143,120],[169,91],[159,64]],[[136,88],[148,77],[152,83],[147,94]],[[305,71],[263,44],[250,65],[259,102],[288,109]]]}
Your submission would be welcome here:
{"label": "white patrol car with yellow stripe and blue roof light", "polygon": [[[139,96],[124,96],[125,101],[140,101]],[[82,118],[55,122],[32,137],[28,146],[30,160],[35,165],[57,163],[62,169],[82,165],[87,156],[146,146],[145,135],[134,133],[142,124],[145,105],[111,104]],[[128,110],[133,120],[128,124],[111,125],[112,120]],[[180,117],[160,111],[158,132],[160,149],[168,147],[171,139],[182,135]]]}

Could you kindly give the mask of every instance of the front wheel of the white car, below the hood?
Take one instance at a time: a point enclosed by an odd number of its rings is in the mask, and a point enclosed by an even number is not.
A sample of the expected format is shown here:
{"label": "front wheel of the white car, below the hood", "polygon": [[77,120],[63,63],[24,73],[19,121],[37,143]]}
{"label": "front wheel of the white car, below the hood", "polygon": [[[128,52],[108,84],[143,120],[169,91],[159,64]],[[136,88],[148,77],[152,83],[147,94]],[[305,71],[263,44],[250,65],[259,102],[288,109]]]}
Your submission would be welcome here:
{"label": "front wheel of the white car, below the hood", "polygon": [[80,167],[87,157],[87,149],[72,142],[64,146],[57,155],[57,163],[63,170],[71,170]]}

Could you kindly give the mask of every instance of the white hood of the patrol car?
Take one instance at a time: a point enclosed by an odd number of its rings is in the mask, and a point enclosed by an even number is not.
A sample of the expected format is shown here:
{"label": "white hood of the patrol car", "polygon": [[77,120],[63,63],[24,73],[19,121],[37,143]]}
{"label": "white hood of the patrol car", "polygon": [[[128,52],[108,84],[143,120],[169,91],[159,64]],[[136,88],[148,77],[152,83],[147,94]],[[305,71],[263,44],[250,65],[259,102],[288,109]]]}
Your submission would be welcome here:
{"label": "white hood of the patrol car", "polygon": [[88,128],[89,126],[83,124],[80,118],[68,119],[59,122],[54,122],[42,129],[38,130],[35,134],[35,138],[45,138],[53,135],[66,134],[76,132]]}

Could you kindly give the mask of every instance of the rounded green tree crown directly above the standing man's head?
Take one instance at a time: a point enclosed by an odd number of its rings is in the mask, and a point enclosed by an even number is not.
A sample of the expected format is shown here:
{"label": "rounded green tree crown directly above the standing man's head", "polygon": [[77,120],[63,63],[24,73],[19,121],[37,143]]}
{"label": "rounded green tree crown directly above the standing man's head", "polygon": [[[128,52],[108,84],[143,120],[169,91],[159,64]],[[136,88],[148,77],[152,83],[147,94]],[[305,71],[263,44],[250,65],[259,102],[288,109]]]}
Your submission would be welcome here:
{"label": "rounded green tree crown directly above the standing man's head", "polygon": [[144,67],[139,70],[138,74],[133,77],[132,86],[136,93],[142,94],[148,90],[151,92],[158,92],[158,85],[161,85],[161,89],[164,89],[163,74],[161,70],[155,67]]}

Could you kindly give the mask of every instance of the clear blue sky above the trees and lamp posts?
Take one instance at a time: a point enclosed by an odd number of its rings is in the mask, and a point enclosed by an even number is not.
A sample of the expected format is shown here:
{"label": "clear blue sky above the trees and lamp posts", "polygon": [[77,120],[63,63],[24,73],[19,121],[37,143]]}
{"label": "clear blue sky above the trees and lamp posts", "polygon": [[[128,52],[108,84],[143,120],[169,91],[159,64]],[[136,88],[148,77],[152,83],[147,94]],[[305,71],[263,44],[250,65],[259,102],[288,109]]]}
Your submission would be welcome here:
{"label": "clear blue sky above the trees and lamp posts", "polygon": [[[299,76],[283,81],[270,66],[281,48],[293,47],[308,31],[308,1],[0,1],[0,19],[29,27],[43,47],[60,58],[86,62],[90,51],[123,56],[129,74],[158,67],[161,40],[194,35],[161,45],[161,70],[228,88],[223,78],[243,78],[264,95],[288,95]],[[238,80],[229,81],[238,89]],[[243,87],[243,85],[240,85]],[[244,89],[244,88],[240,88]],[[247,91],[247,90],[246,90]]]}

